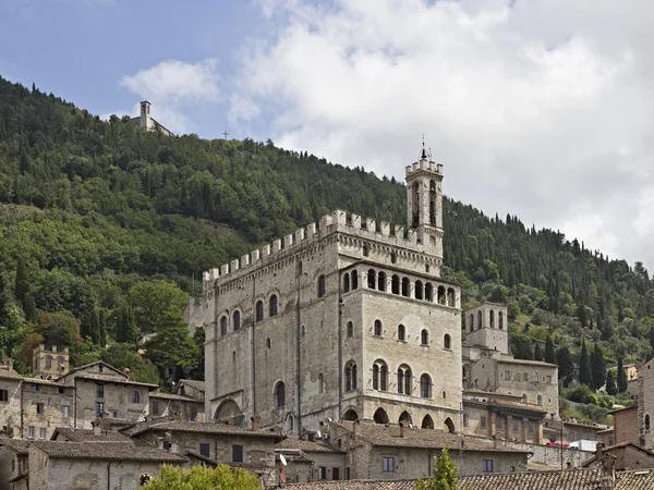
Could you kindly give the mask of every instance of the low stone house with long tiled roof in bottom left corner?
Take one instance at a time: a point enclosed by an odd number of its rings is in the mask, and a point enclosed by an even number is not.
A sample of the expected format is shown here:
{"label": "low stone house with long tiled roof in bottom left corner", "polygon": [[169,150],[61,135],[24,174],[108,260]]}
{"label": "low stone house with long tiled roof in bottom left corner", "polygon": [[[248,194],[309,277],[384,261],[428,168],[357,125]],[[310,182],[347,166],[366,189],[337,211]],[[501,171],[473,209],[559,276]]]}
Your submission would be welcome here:
{"label": "low stone house with long tiled roof in bottom left corner", "polygon": [[37,441],[29,445],[29,487],[48,490],[135,490],[179,454],[125,442]]}

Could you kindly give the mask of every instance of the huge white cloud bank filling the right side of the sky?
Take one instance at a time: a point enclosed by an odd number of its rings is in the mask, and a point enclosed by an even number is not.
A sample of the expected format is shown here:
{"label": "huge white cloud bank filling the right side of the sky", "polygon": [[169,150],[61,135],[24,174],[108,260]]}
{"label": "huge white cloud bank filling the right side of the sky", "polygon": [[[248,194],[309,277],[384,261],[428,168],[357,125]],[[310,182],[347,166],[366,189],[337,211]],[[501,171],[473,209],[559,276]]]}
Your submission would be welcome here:
{"label": "huge white cloud bank filling the right side of the sky", "polygon": [[277,32],[246,46],[233,119],[398,179],[425,133],[455,199],[654,269],[654,3],[262,4]]}

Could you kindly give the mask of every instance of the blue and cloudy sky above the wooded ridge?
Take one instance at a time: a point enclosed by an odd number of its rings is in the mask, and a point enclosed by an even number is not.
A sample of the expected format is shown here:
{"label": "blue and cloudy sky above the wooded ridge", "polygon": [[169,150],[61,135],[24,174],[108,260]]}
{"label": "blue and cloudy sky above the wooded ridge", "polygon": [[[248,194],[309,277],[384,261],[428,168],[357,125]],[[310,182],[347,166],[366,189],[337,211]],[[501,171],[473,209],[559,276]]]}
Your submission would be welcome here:
{"label": "blue and cloudy sky above the wooded ridge", "polygon": [[2,0],[0,75],[107,118],[271,138],[654,271],[651,0]]}

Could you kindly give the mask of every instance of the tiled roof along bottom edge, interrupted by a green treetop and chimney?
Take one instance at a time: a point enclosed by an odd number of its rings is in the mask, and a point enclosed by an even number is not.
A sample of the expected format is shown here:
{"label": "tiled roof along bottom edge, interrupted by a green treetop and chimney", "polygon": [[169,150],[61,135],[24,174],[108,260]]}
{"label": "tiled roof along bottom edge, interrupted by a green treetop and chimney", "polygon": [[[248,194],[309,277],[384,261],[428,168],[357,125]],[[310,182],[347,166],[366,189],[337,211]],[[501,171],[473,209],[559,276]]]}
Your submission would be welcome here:
{"label": "tiled roof along bottom edge, interrupted by a green treetop and chimney", "polygon": [[[459,489],[465,490],[597,490],[601,469],[475,475],[459,478]],[[288,485],[292,490],[415,490],[416,480],[395,481],[324,481]],[[654,470],[617,474],[615,490],[652,490]]]}

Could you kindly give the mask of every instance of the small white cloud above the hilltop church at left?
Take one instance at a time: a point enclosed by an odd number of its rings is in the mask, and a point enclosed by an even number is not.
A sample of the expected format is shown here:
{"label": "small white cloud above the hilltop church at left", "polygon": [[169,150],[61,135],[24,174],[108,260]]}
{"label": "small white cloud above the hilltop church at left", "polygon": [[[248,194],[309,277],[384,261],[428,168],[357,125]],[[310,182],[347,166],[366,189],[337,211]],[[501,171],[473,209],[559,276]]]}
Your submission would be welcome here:
{"label": "small white cloud above the hilltop church at left", "polygon": [[[206,59],[197,63],[166,60],[133,75],[121,78],[120,85],[153,103],[153,117],[173,133],[185,133],[191,127],[186,112],[201,102],[216,102],[220,98],[220,77],[217,61]],[[138,105],[132,110],[138,114]]]}

